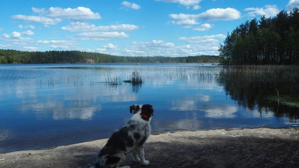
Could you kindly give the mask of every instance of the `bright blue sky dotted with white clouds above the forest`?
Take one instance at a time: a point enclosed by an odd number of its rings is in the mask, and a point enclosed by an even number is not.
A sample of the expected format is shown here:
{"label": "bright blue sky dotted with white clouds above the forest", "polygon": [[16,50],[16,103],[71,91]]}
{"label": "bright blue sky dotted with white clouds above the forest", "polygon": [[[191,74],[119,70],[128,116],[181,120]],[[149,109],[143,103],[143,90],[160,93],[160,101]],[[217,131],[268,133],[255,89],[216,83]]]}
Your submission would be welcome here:
{"label": "bright blue sky dotted with white clouds above the forest", "polygon": [[218,55],[227,32],[299,0],[5,0],[0,49]]}

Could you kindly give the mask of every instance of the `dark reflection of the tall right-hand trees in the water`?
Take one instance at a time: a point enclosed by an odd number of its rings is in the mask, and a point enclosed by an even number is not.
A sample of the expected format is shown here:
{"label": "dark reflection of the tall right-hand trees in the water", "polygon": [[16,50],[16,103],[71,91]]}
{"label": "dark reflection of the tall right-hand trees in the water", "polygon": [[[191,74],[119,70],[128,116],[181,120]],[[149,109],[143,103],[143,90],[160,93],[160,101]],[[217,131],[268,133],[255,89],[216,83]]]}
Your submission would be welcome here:
{"label": "dark reflection of the tall right-hand trees in the water", "polygon": [[299,123],[298,107],[272,100],[277,99],[277,91],[282,98],[298,97],[299,69],[272,69],[271,66],[252,68],[254,67],[224,67],[217,82],[239,106],[251,110],[254,114],[252,117],[287,117],[294,123]]}

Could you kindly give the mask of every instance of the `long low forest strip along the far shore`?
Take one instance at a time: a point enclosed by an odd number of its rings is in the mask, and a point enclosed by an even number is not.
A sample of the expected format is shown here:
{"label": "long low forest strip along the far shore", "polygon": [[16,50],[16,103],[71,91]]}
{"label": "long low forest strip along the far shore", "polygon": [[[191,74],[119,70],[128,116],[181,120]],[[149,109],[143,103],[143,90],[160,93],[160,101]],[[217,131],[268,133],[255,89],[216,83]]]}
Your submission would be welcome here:
{"label": "long low forest strip along the far shore", "polygon": [[163,56],[115,56],[102,53],[82,52],[82,51],[18,51],[0,49],[0,63],[83,63],[85,59],[93,59],[96,63],[203,63],[203,62],[220,62],[219,56],[200,55],[188,57],[163,57]]}

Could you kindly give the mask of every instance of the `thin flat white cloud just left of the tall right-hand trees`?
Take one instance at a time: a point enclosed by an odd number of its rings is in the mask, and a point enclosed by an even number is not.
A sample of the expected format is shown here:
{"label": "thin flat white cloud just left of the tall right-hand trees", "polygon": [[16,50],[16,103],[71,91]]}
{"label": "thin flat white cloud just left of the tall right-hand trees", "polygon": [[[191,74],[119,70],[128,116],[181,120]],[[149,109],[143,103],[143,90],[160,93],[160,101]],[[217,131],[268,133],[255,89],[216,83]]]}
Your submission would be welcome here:
{"label": "thin flat white cloud just left of the tall right-hand trees", "polygon": [[223,34],[206,35],[206,36],[194,36],[194,37],[179,37],[179,40],[186,41],[187,43],[219,43],[219,40],[215,38],[225,38]]}

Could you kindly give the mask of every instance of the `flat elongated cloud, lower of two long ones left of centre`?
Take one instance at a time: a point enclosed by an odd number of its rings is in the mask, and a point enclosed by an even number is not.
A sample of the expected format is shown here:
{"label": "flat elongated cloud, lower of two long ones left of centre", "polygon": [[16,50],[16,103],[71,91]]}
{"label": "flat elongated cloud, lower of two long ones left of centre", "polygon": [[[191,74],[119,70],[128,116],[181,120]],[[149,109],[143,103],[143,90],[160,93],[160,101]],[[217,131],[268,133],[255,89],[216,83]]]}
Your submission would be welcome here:
{"label": "flat elongated cloud, lower of two long ones left of centre", "polygon": [[82,32],[76,36],[66,36],[73,40],[107,41],[115,38],[129,38],[130,35],[125,32]]}

